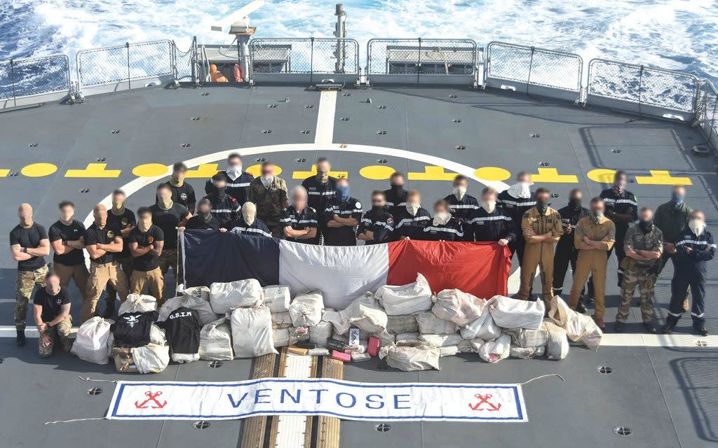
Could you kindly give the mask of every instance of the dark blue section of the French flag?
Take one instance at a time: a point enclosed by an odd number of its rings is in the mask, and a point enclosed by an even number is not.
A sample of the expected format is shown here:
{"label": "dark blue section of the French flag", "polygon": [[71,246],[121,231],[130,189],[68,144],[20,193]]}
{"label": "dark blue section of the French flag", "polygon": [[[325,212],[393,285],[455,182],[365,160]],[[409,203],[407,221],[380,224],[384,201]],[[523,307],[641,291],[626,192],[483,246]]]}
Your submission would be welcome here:
{"label": "dark blue section of the French flag", "polygon": [[262,286],[279,284],[279,239],[187,230],[184,244],[187,287],[247,278]]}

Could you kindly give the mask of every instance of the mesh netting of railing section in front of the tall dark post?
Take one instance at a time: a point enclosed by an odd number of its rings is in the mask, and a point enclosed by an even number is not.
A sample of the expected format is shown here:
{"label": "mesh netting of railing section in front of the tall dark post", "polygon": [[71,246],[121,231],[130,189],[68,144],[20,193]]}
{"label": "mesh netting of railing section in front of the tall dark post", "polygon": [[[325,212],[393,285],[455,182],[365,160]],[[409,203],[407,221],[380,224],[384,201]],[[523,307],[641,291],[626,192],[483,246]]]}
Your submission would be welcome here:
{"label": "mesh netting of railing section in front of the tall dark post", "polygon": [[352,74],[359,76],[354,39],[252,39],[253,73]]}

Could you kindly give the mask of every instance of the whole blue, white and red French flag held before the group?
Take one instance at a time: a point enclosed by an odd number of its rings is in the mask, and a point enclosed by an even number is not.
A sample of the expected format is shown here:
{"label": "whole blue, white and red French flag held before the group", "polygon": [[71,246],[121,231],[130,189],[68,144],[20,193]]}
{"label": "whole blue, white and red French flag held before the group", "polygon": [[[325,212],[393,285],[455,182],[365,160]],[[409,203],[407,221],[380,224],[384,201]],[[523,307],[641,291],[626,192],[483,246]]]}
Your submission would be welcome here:
{"label": "whole blue, white and red French flag held before the group", "polygon": [[406,285],[421,272],[434,293],[456,288],[489,298],[506,295],[507,247],[495,243],[404,240],[371,246],[315,246],[278,238],[188,230],[182,239],[185,285],[256,278],[292,292],[321,290],[342,310],[366,291]]}

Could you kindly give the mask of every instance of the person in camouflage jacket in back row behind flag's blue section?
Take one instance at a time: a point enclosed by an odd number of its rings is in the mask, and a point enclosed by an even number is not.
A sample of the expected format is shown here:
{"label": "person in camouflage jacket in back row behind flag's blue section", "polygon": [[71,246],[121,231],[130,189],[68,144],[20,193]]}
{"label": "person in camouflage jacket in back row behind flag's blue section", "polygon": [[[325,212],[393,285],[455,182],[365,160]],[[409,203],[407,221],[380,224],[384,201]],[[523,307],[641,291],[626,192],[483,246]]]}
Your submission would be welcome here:
{"label": "person in camouflage jacket in back row behind flag's blue section", "polygon": [[249,184],[248,201],[257,206],[257,218],[264,221],[274,237],[281,238],[281,211],[289,206],[286,182],[276,176],[276,166],[262,163],[261,176]]}

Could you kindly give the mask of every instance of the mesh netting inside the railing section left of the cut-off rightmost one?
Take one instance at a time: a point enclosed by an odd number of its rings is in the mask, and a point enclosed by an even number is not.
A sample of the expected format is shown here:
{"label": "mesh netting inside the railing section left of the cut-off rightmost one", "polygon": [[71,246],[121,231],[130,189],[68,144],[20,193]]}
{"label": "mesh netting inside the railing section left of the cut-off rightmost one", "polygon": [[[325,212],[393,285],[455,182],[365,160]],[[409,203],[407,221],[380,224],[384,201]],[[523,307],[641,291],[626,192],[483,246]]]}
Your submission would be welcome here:
{"label": "mesh netting inside the railing section left of the cut-off rightmost one", "polygon": [[697,88],[697,78],[687,73],[603,59],[589,62],[588,95],[694,112]]}

